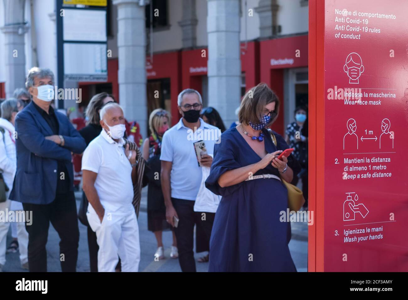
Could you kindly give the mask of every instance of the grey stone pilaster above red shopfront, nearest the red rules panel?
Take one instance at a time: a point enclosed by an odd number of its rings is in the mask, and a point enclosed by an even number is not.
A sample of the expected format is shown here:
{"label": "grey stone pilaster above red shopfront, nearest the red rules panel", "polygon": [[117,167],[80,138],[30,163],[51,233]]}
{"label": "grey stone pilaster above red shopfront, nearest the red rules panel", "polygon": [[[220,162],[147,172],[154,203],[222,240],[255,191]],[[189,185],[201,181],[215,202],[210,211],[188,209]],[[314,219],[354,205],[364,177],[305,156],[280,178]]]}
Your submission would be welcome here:
{"label": "grey stone pilaster above red shopfront, nearest the red rules panel", "polygon": [[260,0],[255,11],[259,14],[259,38],[271,38],[277,34],[276,0]]}

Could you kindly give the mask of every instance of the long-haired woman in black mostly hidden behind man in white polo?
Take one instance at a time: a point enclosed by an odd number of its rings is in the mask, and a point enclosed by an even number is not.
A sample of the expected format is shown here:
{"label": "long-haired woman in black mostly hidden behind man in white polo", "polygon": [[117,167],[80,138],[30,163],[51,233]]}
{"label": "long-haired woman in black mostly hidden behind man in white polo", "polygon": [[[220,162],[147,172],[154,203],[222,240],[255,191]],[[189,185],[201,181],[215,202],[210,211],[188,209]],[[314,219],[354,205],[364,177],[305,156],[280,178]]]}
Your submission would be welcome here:
{"label": "long-haired woman in black mostly hidden behind man in white polo", "polygon": [[[82,128],[79,133],[84,138],[86,146],[99,136],[102,131],[102,126],[99,124],[99,112],[102,107],[109,102],[115,102],[112,95],[108,93],[99,93],[91,98],[88,107],[86,108],[85,119],[87,125]],[[91,272],[98,272],[98,243],[96,242],[96,233],[92,231],[86,218],[86,209],[88,207],[88,200],[85,193],[82,192],[82,201],[80,205],[80,212],[78,216],[82,224],[88,227],[88,247],[89,247],[89,264]]]}

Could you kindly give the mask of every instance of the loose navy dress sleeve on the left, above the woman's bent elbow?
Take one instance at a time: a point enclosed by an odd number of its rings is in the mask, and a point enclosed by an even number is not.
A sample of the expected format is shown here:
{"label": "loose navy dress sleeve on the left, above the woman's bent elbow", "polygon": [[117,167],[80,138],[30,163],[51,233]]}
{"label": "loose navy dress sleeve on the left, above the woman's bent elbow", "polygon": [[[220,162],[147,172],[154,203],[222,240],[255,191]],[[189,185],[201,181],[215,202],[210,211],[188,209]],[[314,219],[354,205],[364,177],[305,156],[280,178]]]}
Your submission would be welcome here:
{"label": "loose navy dress sleeve on the left, above the woman's bent elbow", "polygon": [[237,151],[239,151],[240,147],[234,142],[230,130],[225,131],[220,139],[221,142],[214,146],[213,163],[211,164],[210,175],[205,181],[205,186],[216,195],[227,196],[239,188],[242,182],[231,187],[222,188],[218,184],[218,178],[226,171],[242,167],[237,162]]}

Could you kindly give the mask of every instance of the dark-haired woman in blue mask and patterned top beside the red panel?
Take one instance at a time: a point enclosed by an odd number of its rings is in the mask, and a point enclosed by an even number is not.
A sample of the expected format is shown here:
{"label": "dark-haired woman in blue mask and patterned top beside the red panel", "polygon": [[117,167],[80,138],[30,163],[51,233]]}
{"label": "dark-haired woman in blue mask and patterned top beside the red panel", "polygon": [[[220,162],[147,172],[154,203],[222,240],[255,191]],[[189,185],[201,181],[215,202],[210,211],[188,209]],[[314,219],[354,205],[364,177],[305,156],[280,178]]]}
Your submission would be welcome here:
{"label": "dark-haired woman in blue mask and patterned top beside the red panel", "polygon": [[302,133],[305,124],[307,124],[306,118],[306,107],[297,107],[295,109],[295,122],[290,123],[285,131],[285,140],[290,148],[295,149],[292,154],[302,167],[302,171],[293,179],[293,184],[296,185],[299,178],[302,178],[302,191],[306,200],[303,204],[304,209],[308,207],[308,140]]}

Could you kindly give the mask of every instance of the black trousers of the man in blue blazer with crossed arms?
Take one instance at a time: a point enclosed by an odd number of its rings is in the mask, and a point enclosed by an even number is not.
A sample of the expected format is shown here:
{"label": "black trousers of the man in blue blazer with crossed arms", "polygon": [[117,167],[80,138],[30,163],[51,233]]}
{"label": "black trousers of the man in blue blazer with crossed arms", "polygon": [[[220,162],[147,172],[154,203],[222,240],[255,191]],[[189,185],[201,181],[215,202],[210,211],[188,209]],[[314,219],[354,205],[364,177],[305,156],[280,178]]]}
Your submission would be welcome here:
{"label": "black trousers of the man in blue blazer with crossed arms", "polygon": [[49,223],[60,236],[62,272],[75,272],[78,260],[78,215],[74,192],[57,194],[49,204],[23,203],[24,211],[32,211],[32,224],[26,222],[29,235],[28,263],[30,272],[47,272]]}

